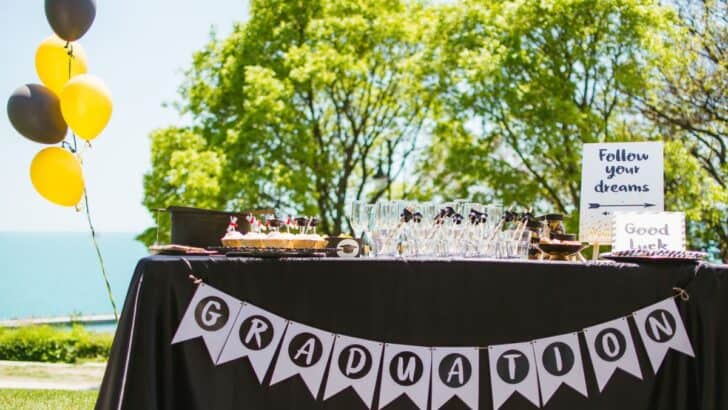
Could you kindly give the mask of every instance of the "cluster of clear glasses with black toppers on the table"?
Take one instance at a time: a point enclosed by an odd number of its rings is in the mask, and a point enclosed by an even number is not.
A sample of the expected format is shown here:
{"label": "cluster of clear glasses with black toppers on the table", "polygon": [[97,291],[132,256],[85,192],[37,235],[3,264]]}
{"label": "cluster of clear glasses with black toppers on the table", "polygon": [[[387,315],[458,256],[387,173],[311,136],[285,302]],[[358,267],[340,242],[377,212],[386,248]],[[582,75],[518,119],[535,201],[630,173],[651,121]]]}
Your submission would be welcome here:
{"label": "cluster of clear glasses with black toppers on the table", "polygon": [[527,259],[528,214],[495,204],[353,201],[349,222],[370,256]]}

